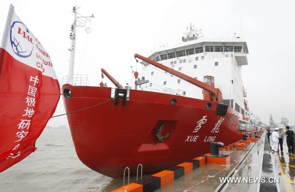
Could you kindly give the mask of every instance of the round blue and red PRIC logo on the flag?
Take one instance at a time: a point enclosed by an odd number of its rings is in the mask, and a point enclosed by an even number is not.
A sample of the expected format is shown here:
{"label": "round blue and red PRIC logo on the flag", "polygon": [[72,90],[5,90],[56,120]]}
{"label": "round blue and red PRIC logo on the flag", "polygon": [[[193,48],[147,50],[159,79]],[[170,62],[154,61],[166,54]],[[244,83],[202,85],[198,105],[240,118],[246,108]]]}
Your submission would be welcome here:
{"label": "round blue and red PRIC logo on the flag", "polygon": [[23,58],[32,54],[34,41],[30,37],[29,29],[22,22],[15,21],[10,27],[10,44],[14,53]]}

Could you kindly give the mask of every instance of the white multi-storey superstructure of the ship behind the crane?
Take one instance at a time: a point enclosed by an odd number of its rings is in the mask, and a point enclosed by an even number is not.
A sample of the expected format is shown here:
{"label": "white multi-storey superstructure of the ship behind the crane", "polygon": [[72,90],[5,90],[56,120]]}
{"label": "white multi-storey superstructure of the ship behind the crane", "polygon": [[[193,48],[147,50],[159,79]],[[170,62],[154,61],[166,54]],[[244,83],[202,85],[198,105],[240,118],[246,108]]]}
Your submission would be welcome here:
{"label": "white multi-storey superstructure of the ship behind the crane", "polygon": [[[240,128],[250,127],[241,75],[241,66],[248,65],[247,43],[239,37],[204,38],[201,30],[192,27],[182,41],[161,47],[148,58],[198,80],[214,83],[215,88],[222,91],[223,104],[239,113]],[[148,80],[148,83],[138,85],[137,89],[203,99],[202,89],[145,62],[141,64],[138,80]],[[134,85],[134,78],[130,85]]]}

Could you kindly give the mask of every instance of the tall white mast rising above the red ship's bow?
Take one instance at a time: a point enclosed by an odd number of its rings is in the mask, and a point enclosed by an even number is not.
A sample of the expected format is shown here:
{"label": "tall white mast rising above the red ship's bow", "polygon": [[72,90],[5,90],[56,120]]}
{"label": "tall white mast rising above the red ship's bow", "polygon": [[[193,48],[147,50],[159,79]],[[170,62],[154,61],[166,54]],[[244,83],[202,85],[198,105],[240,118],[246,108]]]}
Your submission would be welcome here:
{"label": "tall white mast rising above the red ship's bow", "polygon": [[[84,27],[88,22],[91,22],[91,19],[94,18],[94,15],[84,17],[77,12],[80,7],[74,6],[73,13],[74,13],[74,22],[71,25],[71,33],[70,33],[70,40],[71,40],[71,48],[68,50],[70,51],[70,61],[69,61],[69,72],[67,83],[73,85],[74,81],[74,66],[75,66],[75,51],[76,51],[76,28],[77,27]],[[86,28],[86,32],[89,33],[89,28]]]}

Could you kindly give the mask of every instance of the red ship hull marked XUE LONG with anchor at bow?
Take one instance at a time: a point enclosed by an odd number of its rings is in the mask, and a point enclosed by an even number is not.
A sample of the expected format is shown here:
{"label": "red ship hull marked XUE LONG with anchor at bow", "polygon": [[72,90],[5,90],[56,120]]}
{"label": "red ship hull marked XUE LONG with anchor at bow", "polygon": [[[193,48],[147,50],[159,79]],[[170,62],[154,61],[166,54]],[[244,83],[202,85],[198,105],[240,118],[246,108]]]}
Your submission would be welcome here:
{"label": "red ship hull marked XUE LONG with anchor at bow", "polygon": [[[225,116],[218,116],[215,102],[207,110],[205,100],[130,90],[126,105],[119,98],[116,106],[110,100],[111,88],[68,84],[65,88],[71,91],[70,98],[63,97],[66,112],[104,102],[67,118],[79,159],[113,178],[121,177],[125,167],[135,174],[138,164],[144,174],[155,173],[208,153],[210,142],[227,145],[245,134],[238,132],[238,113],[229,107]],[[171,99],[177,100],[176,105]],[[194,132],[202,118],[205,123]],[[161,134],[170,135],[161,143],[154,132],[163,122]]]}

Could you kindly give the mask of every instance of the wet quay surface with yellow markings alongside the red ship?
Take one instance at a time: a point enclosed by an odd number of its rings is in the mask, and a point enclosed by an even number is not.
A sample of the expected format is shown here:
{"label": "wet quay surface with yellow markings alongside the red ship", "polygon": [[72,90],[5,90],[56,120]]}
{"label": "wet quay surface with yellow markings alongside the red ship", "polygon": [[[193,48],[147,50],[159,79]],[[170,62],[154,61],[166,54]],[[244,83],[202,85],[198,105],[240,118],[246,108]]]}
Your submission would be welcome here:
{"label": "wet quay surface with yellow markings alongside the red ship", "polygon": [[[264,133],[256,143],[245,145],[244,148],[234,148],[224,152],[224,154],[230,156],[230,164],[220,165],[207,162],[204,166],[185,173],[183,176],[157,190],[153,190],[155,185],[157,185],[156,183],[153,184],[153,187],[147,188],[146,186],[145,188],[144,186],[143,189],[137,187],[134,189],[129,189],[128,187],[118,188],[120,186],[114,185],[107,187],[106,190],[115,190],[117,192],[295,191],[295,154],[288,153],[286,141],[283,142],[283,151],[279,153],[271,153],[270,145],[272,145],[272,141],[269,144]],[[148,175],[144,176],[144,179],[145,177],[148,178]],[[241,181],[221,182],[220,179],[222,178],[241,178]],[[255,179],[262,180],[258,182]],[[265,179],[265,182],[263,179]],[[122,179],[120,181],[122,182]],[[132,182],[136,183],[136,177],[130,178],[130,183]]]}

